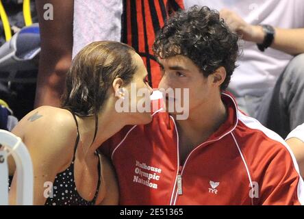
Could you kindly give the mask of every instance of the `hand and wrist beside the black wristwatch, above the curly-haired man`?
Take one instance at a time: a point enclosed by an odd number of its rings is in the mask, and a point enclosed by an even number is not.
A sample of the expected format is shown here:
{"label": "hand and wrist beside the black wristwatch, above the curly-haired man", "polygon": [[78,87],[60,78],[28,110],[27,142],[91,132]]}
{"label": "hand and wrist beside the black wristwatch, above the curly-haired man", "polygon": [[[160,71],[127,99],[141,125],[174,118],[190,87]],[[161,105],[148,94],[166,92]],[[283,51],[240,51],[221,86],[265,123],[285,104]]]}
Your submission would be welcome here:
{"label": "hand and wrist beside the black wristwatch, above the curly-haired man", "polygon": [[231,31],[240,35],[243,40],[262,44],[264,31],[261,26],[250,25],[238,14],[227,9],[220,10],[220,18],[223,18]]}

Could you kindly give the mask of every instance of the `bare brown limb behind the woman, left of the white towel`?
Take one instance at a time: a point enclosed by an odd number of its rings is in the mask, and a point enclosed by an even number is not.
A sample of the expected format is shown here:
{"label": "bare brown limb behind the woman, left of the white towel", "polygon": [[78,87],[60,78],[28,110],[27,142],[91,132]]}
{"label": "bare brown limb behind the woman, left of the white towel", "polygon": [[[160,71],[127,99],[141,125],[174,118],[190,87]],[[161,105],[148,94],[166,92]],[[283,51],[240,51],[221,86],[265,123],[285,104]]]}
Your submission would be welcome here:
{"label": "bare brown limb behind the woman, left of the white towel", "polygon": [[[43,18],[46,3],[53,5],[53,21]],[[37,78],[35,107],[60,106],[66,72],[71,65],[73,49],[73,0],[36,1],[41,36],[41,53]]]}

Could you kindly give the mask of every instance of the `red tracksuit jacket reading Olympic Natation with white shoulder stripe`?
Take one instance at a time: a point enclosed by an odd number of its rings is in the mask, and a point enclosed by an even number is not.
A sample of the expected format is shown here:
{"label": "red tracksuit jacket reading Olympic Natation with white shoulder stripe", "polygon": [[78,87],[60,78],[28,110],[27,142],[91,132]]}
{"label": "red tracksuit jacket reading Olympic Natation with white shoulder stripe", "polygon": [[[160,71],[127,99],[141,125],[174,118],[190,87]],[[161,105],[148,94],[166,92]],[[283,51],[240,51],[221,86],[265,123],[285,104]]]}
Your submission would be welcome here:
{"label": "red tracksuit jacket reading Olympic Natation with white shoulder stripe", "polygon": [[175,121],[164,112],[128,126],[101,151],[112,158],[121,205],[301,205],[304,183],[288,145],[223,94],[227,121],[179,165]]}

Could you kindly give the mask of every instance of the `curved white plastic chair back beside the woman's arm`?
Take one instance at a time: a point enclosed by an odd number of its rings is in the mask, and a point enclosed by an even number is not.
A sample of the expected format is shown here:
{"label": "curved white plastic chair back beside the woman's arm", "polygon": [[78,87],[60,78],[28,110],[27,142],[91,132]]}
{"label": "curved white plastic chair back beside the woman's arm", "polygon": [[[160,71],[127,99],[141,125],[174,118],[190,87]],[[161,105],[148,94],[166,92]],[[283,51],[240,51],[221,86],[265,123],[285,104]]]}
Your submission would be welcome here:
{"label": "curved white plastic chair back beside the woman's arm", "polygon": [[8,205],[8,155],[16,164],[16,205],[33,205],[34,175],[31,157],[21,138],[0,129],[0,205]]}

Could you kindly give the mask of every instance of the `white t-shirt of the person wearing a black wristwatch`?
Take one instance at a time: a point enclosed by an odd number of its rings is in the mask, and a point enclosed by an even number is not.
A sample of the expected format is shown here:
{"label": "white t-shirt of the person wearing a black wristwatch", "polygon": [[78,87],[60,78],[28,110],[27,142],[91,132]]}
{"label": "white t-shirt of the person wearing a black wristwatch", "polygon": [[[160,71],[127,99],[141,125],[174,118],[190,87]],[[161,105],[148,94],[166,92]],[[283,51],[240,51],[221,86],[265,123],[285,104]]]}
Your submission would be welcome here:
{"label": "white t-shirt of the person wearing a black wristwatch", "polygon": [[[268,24],[292,29],[304,27],[303,0],[184,0],[185,8],[192,5],[222,10],[227,8],[252,25]],[[236,96],[262,96],[275,82],[292,55],[268,48],[261,52],[253,42],[240,42],[243,54],[231,77],[229,88]]]}

